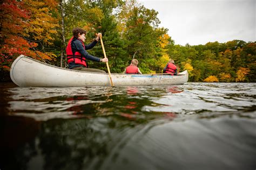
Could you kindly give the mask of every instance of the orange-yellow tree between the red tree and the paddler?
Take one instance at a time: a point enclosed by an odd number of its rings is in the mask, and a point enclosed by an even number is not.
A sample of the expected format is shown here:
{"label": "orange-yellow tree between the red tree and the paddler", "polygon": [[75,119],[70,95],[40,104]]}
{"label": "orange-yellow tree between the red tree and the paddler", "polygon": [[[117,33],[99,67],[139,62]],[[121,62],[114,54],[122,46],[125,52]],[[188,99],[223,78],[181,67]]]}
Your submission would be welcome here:
{"label": "orange-yellow tree between the red tree and the paddler", "polygon": [[[26,9],[29,11],[28,23],[30,26],[25,27],[24,32],[28,34],[29,42],[36,42],[37,49],[45,55],[39,55],[36,59],[56,59],[57,55],[50,52],[50,48],[54,47],[53,41],[56,36],[56,29],[59,27],[58,19],[52,16],[55,11],[57,2],[55,0],[33,1],[24,0]],[[35,58],[35,56],[33,57]]]}

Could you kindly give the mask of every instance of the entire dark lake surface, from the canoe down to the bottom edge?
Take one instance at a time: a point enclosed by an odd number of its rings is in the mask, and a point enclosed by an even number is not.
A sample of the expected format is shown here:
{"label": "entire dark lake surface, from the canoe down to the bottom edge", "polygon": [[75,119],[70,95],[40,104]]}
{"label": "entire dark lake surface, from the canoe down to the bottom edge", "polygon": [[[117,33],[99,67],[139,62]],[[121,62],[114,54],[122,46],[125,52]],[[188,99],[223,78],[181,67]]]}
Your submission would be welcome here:
{"label": "entire dark lake surface, from the canoe down to the bottom edge", "polygon": [[255,169],[256,83],[1,83],[0,169]]}

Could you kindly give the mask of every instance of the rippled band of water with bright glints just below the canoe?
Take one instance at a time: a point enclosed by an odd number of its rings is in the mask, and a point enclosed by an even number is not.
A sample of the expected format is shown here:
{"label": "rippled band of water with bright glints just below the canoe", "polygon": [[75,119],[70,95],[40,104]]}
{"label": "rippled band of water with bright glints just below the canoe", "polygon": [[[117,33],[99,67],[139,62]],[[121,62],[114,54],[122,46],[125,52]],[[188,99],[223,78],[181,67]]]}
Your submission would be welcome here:
{"label": "rippled band of water with bright glints just below the canoe", "polygon": [[[127,119],[184,115],[255,114],[255,83],[186,83],[181,86],[10,88],[9,115],[38,121],[118,115]],[[221,114],[219,114],[221,113]],[[199,116],[194,116],[198,118]],[[251,116],[253,117],[253,116]]]}

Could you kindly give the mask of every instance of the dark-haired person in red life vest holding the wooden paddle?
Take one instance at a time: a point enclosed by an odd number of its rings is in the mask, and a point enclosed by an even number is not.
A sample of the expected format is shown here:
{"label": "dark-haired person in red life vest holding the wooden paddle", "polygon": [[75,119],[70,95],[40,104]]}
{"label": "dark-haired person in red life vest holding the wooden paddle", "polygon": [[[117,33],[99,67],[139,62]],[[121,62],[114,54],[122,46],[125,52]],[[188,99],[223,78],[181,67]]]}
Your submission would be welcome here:
{"label": "dark-haired person in red life vest holding the wooden paddle", "polygon": [[86,60],[92,60],[96,62],[108,62],[107,58],[97,58],[96,56],[90,55],[86,52],[87,49],[93,48],[101,33],[98,33],[97,38],[89,45],[84,45],[86,31],[76,27],[72,30],[73,37],[69,40],[68,46],[66,47],[66,55],[68,58],[69,69],[82,70],[85,72],[98,72],[106,73],[104,70],[88,68]]}

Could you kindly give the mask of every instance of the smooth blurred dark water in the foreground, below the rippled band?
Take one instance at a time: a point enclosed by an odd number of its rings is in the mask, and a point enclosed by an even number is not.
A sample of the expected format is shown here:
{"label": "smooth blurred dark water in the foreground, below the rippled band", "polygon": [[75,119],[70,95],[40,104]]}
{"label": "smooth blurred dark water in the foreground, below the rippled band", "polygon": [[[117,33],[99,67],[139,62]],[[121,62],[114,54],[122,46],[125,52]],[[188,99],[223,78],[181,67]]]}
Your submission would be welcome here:
{"label": "smooth blurred dark water in the foreground, below the rippled band", "polygon": [[4,169],[250,169],[256,154],[250,119],[134,124],[109,116],[36,124],[19,129],[28,139],[16,136],[19,146],[2,152]]}

